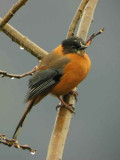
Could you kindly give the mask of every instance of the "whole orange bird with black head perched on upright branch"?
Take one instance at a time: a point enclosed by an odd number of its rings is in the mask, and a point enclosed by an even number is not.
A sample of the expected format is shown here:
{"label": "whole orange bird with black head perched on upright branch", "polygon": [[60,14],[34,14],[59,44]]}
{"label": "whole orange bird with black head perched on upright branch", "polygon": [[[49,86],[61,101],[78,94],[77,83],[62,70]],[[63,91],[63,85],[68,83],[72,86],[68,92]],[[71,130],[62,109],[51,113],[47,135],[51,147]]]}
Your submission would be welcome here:
{"label": "whole orange bird with black head perched on upright branch", "polygon": [[75,94],[73,89],[88,75],[91,69],[91,60],[85,49],[90,41],[88,40],[85,43],[77,36],[65,39],[33,69],[34,73],[29,79],[28,92],[25,98],[28,106],[16,127],[13,139],[17,139],[32,107],[48,94],[57,97],[61,102],[61,106],[63,105],[73,112],[72,106],[64,102],[62,96],[71,92]]}

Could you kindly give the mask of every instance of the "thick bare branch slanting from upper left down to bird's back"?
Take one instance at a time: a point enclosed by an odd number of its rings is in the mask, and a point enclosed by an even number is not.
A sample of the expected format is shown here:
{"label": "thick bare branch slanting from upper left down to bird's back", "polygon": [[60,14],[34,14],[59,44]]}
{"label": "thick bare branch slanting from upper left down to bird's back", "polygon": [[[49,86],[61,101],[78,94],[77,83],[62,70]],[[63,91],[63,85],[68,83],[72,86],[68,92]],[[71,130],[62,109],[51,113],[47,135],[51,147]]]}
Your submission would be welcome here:
{"label": "thick bare branch slanting from upper left down to bird's back", "polygon": [[[0,18],[0,23],[2,21],[2,18]],[[23,47],[26,51],[30,52],[33,56],[37,57],[38,59],[42,59],[45,55],[48,53],[40,48],[38,45],[33,43],[30,39],[23,36],[19,31],[17,31],[15,28],[13,28],[11,25],[6,24],[2,31],[12,39],[12,41],[19,44],[21,47]]]}

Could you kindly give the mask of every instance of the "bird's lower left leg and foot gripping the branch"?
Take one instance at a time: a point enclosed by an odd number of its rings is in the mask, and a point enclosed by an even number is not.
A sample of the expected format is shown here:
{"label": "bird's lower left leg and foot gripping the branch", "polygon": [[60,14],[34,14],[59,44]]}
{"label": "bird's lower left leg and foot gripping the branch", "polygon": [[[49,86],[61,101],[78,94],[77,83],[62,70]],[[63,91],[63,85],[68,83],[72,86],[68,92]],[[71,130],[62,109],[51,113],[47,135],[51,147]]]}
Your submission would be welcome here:
{"label": "bird's lower left leg and foot gripping the branch", "polygon": [[61,108],[61,107],[65,107],[66,109],[68,109],[70,112],[74,113],[74,108],[72,104],[67,104],[61,97],[58,97],[58,99],[60,100],[61,104],[59,104],[57,108]]}

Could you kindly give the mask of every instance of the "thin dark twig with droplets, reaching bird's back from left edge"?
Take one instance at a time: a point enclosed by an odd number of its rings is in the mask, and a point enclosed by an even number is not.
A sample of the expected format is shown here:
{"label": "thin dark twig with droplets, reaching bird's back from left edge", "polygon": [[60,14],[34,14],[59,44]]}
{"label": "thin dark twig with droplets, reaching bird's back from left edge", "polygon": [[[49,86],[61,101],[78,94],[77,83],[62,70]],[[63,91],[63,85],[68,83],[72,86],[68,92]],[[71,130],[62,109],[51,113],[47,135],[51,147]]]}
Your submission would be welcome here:
{"label": "thin dark twig with droplets, reaching bird's back from left edge", "polygon": [[25,76],[28,76],[28,75],[32,75],[34,73],[34,70],[32,71],[29,71],[27,73],[24,73],[24,74],[21,74],[21,75],[18,75],[18,74],[10,74],[10,73],[7,73],[6,71],[1,71],[0,70],[0,76],[3,78],[3,77],[9,77],[11,79],[20,79],[20,78],[23,78]]}

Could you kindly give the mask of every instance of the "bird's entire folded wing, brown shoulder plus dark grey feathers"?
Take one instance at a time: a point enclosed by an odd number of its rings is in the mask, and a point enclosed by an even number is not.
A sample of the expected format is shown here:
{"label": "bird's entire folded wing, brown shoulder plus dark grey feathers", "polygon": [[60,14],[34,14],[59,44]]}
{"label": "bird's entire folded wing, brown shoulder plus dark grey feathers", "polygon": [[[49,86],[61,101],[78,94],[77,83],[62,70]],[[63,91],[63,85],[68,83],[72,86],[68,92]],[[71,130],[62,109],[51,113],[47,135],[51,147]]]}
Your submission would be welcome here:
{"label": "bird's entire folded wing, brown shoulder plus dark grey feathers", "polygon": [[[29,90],[25,102],[54,87],[63,75],[64,66],[69,62],[70,59],[61,56],[50,63],[48,68],[46,67],[47,69],[35,72],[29,80]],[[44,63],[45,66],[47,66],[47,64],[48,63]]]}

